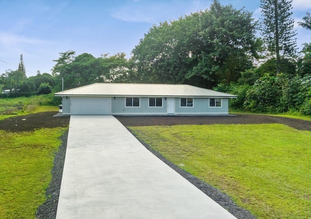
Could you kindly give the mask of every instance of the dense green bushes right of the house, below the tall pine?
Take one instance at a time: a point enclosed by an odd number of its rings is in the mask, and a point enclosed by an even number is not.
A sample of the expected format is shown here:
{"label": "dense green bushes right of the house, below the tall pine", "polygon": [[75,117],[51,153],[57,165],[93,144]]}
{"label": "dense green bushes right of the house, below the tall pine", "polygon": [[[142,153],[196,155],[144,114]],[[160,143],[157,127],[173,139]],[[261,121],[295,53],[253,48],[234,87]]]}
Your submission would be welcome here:
{"label": "dense green bushes right of the house, below the tall pine", "polygon": [[[247,91],[244,107],[252,112],[299,111],[304,103],[308,109],[311,75],[289,78],[285,74],[265,75]],[[308,92],[309,91],[309,92]],[[306,114],[308,110],[300,110]]]}

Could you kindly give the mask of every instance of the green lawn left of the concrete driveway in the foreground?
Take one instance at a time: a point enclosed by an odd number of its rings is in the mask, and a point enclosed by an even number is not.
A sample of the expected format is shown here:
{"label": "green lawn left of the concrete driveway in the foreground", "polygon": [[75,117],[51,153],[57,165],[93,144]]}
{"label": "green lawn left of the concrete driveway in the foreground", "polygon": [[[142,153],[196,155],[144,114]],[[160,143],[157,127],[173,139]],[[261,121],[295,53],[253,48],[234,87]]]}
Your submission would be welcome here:
{"label": "green lawn left of the concrete driveway in the foreground", "polygon": [[54,153],[66,129],[22,133],[0,130],[1,219],[35,219],[37,207],[46,200]]}

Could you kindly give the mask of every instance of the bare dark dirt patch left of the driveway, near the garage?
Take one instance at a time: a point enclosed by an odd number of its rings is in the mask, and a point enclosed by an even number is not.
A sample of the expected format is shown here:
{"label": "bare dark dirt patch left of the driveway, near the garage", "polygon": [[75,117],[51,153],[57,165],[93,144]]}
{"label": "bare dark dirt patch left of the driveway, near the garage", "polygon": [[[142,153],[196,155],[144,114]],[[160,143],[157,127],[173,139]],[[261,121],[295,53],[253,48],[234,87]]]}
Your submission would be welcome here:
{"label": "bare dark dirt patch left of the driveway, near the garage", "polygon": [[0,129],[11,132],[34,131],[40,128],[67,127],[70,116],[53,117],[57,111],[14,116],[0,121]]}

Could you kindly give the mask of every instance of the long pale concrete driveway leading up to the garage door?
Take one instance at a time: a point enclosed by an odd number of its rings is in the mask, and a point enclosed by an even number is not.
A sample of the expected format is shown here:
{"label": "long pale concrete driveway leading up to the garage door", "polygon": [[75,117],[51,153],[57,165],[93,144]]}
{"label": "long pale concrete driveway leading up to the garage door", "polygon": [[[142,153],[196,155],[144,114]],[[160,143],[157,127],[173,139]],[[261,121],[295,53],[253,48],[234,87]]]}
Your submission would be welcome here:
{"label": "long pale concrete driveway leading up to the garage door", "polygon": [[111,115],[72,115],[57,219],[232,219]]}

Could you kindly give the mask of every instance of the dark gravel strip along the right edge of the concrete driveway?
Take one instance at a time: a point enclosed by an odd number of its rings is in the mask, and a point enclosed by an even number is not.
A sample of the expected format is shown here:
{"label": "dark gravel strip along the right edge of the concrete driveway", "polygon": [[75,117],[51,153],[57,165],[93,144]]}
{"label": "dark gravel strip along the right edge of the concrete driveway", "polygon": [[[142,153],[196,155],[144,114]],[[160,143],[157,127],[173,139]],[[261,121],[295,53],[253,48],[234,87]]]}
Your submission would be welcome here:
{"label": "dark gravel strip along the right edge of the concrete driveway", "polygon": [[[134,136],[135,134],[127,128]],[[135,136],[137,138],[137,136]],[[179,175],[184,177],[190,183],[192,183],[195,187],[204,192],[209,198],[216,201],[219,205],[225,208],[228,212],[234,215],[238,219],[256,219],[254,215],[252,215],[249,211],[244,208],[238,206],[227,194],[221,192],[219,189],[213,187],[212,185],[205,183],[195,176],[191,175],[189,172],[181,169],[179,166],[173,164],[168,161],[165,157],[163,157],[159,152],[152,149],[148,144],[144,141],[137,138],[138,141],[145,146],[151,153],[153,153],[157,158],[163,161],[165,164],[170,166],[173,170],[175,170]]]}

